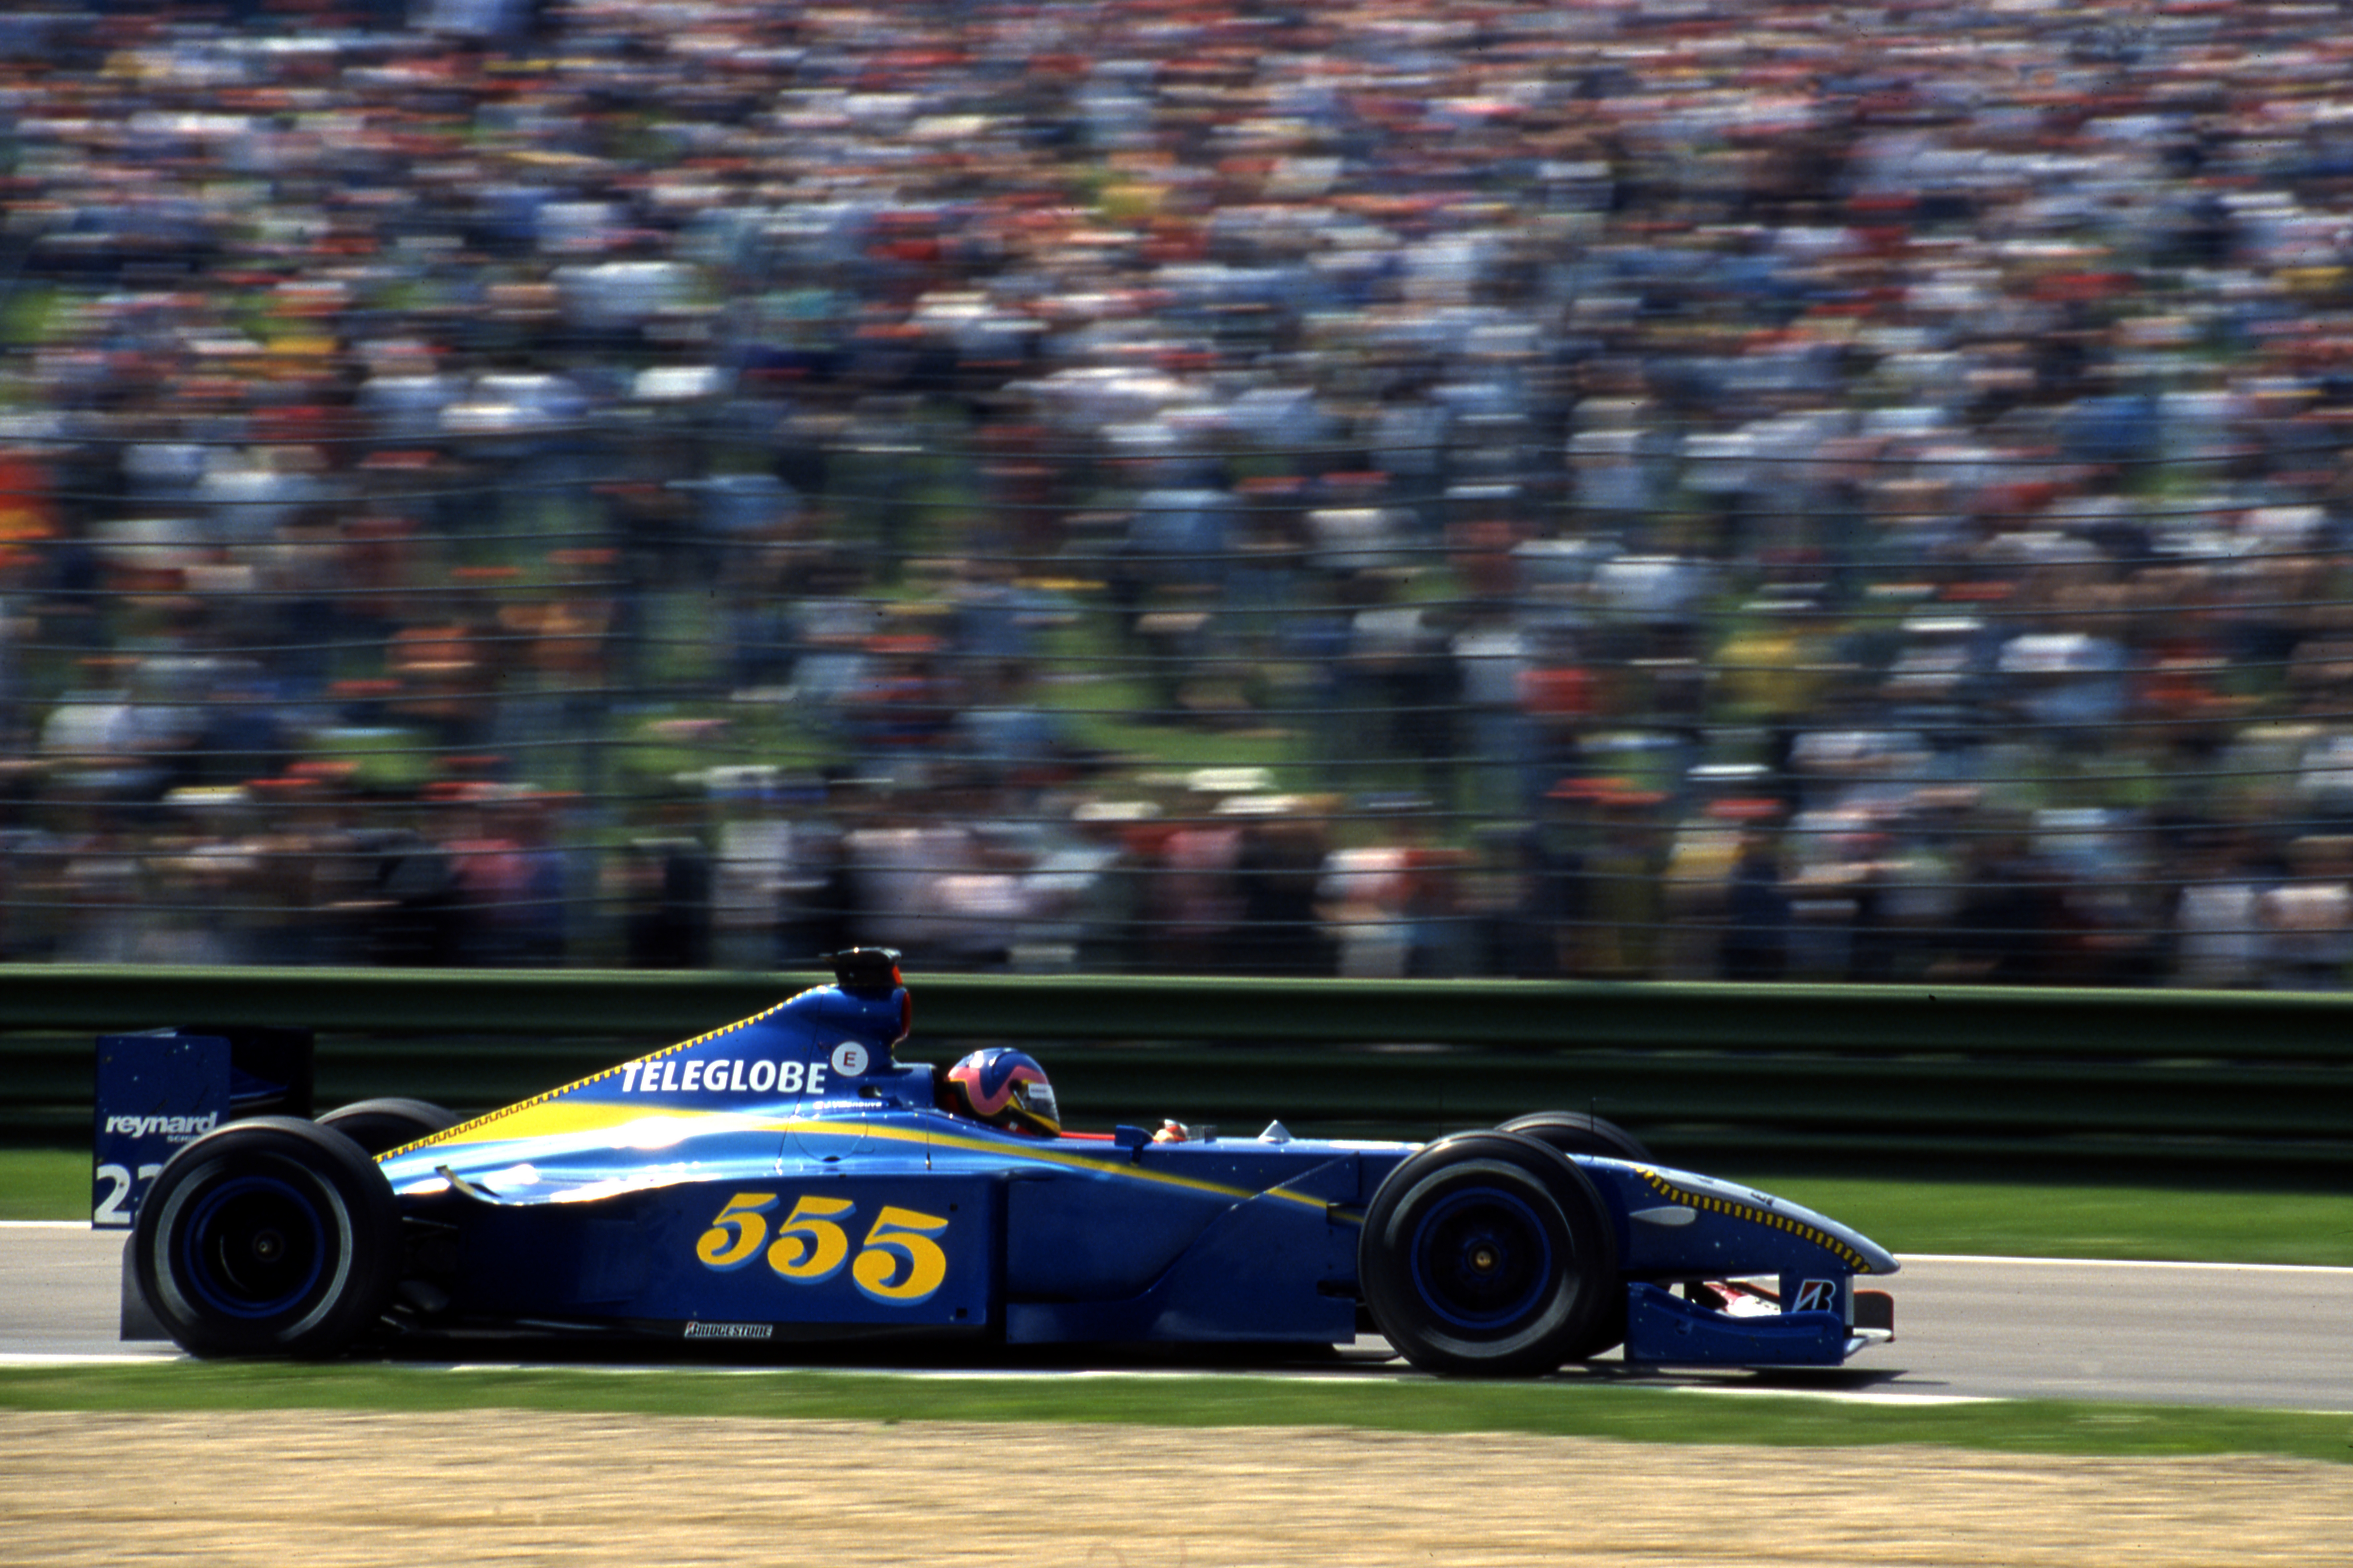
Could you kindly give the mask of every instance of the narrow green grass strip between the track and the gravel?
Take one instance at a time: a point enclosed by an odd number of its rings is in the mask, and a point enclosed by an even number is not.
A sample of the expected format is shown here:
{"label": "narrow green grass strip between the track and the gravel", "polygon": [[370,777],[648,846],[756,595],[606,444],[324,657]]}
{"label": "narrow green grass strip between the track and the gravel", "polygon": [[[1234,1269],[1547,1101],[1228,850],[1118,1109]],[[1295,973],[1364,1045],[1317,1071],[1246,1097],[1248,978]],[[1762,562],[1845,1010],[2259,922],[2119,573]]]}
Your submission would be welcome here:
{"label": "narrow green grass strip between the track and the gravel", "polygon": [[[1725,1399],[1626,1382],[1421,1378],[875,1375],[734,1366],[452,1368],[424,1363],[188,1363],[0,1368],[12,1410],[544,1410],[739,1420],[1061,1422],[1139,1427],[1362,1427],[1640,1443],[1854,1448],[1939,1443],[1998,1453],[2181,1458],[2271,1453],[2353,1462],[2353,1413],[2073,1401],[1842,1403]],[[887,1418],[882,1413],[889,1413]]]}

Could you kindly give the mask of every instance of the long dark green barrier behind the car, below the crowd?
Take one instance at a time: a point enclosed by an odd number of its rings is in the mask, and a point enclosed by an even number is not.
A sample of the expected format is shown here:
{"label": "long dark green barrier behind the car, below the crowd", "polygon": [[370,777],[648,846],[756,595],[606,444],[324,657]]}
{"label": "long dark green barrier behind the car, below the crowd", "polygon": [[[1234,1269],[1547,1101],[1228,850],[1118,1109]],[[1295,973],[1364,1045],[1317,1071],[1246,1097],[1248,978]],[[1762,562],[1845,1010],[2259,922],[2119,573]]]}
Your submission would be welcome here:
{"label": "long dark green barrier behind the car, below the crowd", "polygon": [[[821,976],[0,971],[0,1133],[89,1128],[92,1037],[306,1025],[320,1103],[487,1110]],[[1661,1157],[2353,1171],[2353,999],[2268,992],[911,976],[906,1060],[1035,1046],[1078,1126],[1433,1135],[1598,1110]]]}

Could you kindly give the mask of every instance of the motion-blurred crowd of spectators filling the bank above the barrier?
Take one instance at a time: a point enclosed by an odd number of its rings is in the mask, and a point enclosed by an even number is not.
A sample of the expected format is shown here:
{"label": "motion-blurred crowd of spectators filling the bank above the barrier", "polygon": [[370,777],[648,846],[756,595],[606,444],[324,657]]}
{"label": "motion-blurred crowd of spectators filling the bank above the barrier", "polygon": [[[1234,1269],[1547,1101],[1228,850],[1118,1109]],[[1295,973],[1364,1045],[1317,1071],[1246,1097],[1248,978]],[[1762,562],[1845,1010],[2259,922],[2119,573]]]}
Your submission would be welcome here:
{"label": "motion-blurred crowd of spectators filling the bank above the barrier", "polygon": [[2339,987],[2344,9],[0,16],[0,954]]}

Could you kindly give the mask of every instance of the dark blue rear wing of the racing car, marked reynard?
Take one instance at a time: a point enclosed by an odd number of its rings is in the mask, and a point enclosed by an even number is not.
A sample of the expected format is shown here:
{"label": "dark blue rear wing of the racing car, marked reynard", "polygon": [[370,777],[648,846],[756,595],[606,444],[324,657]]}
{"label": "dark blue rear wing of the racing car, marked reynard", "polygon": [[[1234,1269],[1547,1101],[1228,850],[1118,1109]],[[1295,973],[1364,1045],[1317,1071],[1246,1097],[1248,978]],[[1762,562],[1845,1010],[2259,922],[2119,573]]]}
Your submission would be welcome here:
{"label": "dark blue rear wing of the racing car, marked reynard", "polygon": [[311,1114],[311,1030],[101,1034],[89,1225],[127,1229],[179,1147],[242,1117]]}

